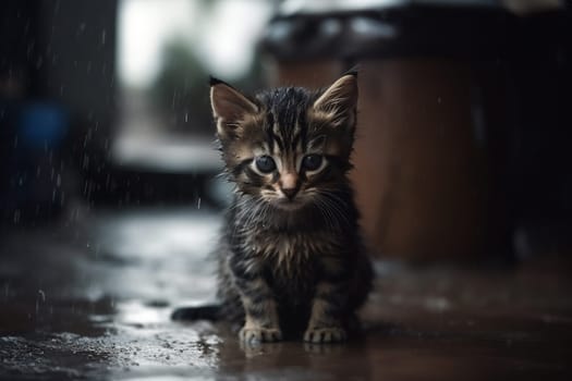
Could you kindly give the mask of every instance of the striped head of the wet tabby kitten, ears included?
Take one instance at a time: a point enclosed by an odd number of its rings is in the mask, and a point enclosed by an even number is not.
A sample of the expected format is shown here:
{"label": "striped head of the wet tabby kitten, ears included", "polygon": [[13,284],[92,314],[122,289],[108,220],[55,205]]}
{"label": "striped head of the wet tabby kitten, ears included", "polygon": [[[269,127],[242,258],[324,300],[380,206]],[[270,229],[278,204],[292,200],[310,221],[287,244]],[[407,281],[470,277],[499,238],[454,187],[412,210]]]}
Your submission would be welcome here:
{"label": "striped head of the wet tabby kitten, ears included", "polygon": [[238,189],[295,210],[345,185],[356,79],[349,73],[325,90],[281,87],[255,98],[211,79],[217,137]]}

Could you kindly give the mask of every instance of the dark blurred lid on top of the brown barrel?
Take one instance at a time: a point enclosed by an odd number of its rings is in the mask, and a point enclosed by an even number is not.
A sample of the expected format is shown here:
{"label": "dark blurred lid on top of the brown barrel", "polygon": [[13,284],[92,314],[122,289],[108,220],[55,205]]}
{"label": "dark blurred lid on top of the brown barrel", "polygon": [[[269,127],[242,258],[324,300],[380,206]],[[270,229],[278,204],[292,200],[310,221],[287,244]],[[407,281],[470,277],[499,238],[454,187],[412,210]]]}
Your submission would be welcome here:
{"label": "dark blurred lid on top of the brown barrel", "polygon": [[270,21],[260,47],[285,61],[501,58],[510,50],[515,19],[491,0],[467,0],[462,5],[451,0],[290,0]]}

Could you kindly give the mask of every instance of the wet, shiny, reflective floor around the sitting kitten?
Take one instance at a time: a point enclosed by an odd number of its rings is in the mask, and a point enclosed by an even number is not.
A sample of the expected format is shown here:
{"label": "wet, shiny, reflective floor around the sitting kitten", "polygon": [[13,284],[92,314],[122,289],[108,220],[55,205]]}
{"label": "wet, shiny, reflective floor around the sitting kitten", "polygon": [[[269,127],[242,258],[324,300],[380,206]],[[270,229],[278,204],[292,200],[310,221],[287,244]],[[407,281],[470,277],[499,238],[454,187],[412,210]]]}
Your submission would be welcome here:
{"label": "wet, shiny, reflective floor around the sitting kitten", "polygon": [[561,259],[510,268],[378,261],[345,344],[241,347],[211,300],[207,210],[88,212],[0,235],[2,380],[555,380],[572,376],[572,280]]}

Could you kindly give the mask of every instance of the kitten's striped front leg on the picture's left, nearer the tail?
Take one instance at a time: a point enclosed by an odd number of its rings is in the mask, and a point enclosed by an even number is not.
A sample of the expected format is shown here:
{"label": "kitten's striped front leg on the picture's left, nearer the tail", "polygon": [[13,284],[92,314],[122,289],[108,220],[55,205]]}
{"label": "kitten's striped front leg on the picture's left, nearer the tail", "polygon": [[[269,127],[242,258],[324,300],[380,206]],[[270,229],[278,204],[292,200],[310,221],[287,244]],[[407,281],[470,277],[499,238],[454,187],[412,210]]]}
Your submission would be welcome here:
{"label": "kitten's striped front leg on the picture's left, nearer the tail", "polygon": [[230,262],[244,307],[244,327],[239,334],[241,341],[255,343],[281,340],[276,300],[261,274],[256,271],[257,267],[247,266],[244,259]]}

